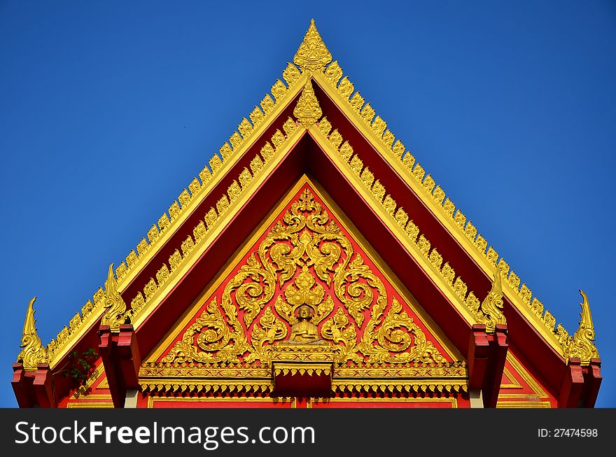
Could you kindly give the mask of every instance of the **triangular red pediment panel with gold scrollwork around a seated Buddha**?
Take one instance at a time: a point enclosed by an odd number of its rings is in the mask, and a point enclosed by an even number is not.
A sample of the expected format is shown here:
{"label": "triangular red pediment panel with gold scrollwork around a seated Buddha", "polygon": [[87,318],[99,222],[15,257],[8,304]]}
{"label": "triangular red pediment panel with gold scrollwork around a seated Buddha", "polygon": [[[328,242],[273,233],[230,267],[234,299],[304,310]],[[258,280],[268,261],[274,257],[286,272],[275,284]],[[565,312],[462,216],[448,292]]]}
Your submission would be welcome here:
{"label": "triangular red pediment panel with gold scrollwork around a seated Buddha", "polygon": [[448,363],[308,188],[221,295],[162,363],[264,366],[296,339],[302,351],[325,345],[337,363]]}

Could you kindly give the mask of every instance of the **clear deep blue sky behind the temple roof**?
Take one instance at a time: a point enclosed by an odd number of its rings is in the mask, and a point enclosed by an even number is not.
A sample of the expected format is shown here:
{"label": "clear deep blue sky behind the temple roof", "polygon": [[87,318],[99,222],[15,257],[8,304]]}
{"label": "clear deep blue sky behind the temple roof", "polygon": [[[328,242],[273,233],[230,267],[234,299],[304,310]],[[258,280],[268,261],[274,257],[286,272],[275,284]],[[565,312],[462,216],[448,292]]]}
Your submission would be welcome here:
{"label": "clear deep blue sky behind the temple roof", "polygon": [[570,331],[615,407],[616,4],[0,0],[0,407],[248,115],[314,17],[356,89]]}

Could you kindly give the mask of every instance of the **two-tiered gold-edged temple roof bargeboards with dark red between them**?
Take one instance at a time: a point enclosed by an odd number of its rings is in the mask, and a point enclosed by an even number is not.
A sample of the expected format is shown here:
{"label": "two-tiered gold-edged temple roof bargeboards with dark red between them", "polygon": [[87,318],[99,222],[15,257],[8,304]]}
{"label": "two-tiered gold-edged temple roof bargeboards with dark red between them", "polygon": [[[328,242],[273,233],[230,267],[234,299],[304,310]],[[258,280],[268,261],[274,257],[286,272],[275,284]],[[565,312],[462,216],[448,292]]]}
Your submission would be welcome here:
{"label": "two-tiered gold-edged temple roof bargeboards with dark red between them", "polygon": [[[323,117],[325,111],[332,113],[330,118]],[[276,124],[278,120],[284,120],[282,125]],[[349,133],[343,135],[343,131]],[[556,318],[531,288],[344,75],[312,20],[282,79],[241,118],[237,130],[136,248],[117,267],[110,267],[105,287],[76,312],[45,351],[39,350],[30,304],[24,335],[27,330],[34,337],[22,341],[25,349],[20,358],[28,353],[31,365],[44,359],[54,367],[101,319],[113,328],[130,318],[139,329],[304,136],[335,162],[469,326],[484,323],[493,329],[506,322],[507,307],[511,307],[517,322],[526,322],[563,363],[570,357],[579,357],[583,363],[598,357],[587,297],[582,293],[582,319],[575,335],[556,326]],[[364,144],[370,145],[370,154],[363,150]],[[254,148],[258,154],[253,154]],[[419,203],[411,202],[411,197]],[[206,206],[204,214],[199,214]],[[475,267],[472,272],[469,265]],[[499,315],[503,300],[506,312]]]}

